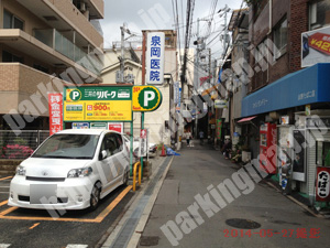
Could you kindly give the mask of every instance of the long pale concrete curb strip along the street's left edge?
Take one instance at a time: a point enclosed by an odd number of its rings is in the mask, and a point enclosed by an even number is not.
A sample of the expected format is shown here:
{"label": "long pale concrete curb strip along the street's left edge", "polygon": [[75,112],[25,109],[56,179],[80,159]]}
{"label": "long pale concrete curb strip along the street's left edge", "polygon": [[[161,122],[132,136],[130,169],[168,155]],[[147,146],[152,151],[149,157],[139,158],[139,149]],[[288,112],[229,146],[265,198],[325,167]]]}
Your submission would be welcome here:
{"label": "long pale concrete curb strip along the street's left edge", "polygon": [[172,159],[168,162],[167,168],[165,169],[162,177],[157,182],[157,184],[156,184],[156,186],[154,188],[154,192],[153,192],[152,196],[150,197],[150,201],[146,204],[146,206],[145,206],[145,208],[144,208],[144,211],[142,213],[142,216],[141,216],[138,225],[136,225],[136,228],[135,228],[135,230],[134,230],[134,233],[133,233],[133,235],[131,237],[131,240],[129,241],[128,248],[135,248],[135,247],[138,247],[140,238],[141,238],[142,233],[144,230],[144,227],[145,227],[145,225],[146,225],[146,223],[148,220],[148,217],[150,217],[151,212],[152,212],[152,209],[154,207],[154,204],[156,202],[156,198],[158,196],[158,193],[160,193],[161,187],[163,185],[163,182],[164,182],[164,180],[165,180],[165,177],[167,175],[167,172],[168,172],[168,170],[169,170],[169,168],[172,165],[173,160],[174,160],[174,157],[172,157]]}

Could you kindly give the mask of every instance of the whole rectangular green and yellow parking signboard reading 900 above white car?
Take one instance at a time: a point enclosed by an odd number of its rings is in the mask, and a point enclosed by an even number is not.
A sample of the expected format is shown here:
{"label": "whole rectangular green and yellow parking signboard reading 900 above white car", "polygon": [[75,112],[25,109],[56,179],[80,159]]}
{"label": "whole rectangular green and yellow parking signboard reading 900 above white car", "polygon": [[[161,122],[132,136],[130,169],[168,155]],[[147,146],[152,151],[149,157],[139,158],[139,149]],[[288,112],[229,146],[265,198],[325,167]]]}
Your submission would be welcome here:
{"label": "whole rectangular green and yellow parking signboard reading 900 above white car", "polygon": [[132,87],[64,88],[64,121],[131,121]]}

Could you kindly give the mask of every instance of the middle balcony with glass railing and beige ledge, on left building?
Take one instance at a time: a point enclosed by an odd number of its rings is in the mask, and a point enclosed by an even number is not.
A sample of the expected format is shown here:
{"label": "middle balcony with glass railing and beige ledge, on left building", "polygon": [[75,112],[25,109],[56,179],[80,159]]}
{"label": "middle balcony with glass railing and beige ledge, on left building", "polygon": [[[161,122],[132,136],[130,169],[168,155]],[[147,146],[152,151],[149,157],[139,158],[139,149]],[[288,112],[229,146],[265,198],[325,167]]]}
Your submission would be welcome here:
{"label": "middle balcony with glass railing and beige ledge, on left building", "polygon": [[74,67],[81,75],[88,74],[101,82],[101,63],[87,56],[56,30],[36,31],[35,37],[22,30],[0,30],[0,43],[54,67]]}

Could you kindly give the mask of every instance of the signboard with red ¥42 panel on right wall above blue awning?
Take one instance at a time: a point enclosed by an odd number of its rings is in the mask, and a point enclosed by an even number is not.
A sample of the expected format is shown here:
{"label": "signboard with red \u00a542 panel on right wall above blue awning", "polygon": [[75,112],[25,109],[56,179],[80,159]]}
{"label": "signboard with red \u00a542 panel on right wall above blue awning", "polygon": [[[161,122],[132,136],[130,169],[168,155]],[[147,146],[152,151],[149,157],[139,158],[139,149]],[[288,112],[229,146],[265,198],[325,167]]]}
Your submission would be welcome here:
{"label": "signboard with red \u00a542 panel on right wall above blue awning", "polygon": [[301,67],[330,62],[330,28],[301,33]]}

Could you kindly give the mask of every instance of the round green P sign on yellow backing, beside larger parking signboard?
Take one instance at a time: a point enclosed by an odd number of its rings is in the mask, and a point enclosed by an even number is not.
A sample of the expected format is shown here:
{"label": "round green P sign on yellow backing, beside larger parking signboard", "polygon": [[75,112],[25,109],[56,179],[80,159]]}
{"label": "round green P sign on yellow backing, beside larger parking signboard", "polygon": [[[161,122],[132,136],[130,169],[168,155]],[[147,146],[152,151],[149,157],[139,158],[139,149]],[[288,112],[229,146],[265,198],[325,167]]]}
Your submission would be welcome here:
{"label": "round green P sign on yellow backing, beside larger parking signboard", "polygon": [[133,86],[133,111],[154,111],[161,104],[162,93],[155,86]]}

